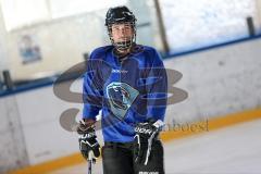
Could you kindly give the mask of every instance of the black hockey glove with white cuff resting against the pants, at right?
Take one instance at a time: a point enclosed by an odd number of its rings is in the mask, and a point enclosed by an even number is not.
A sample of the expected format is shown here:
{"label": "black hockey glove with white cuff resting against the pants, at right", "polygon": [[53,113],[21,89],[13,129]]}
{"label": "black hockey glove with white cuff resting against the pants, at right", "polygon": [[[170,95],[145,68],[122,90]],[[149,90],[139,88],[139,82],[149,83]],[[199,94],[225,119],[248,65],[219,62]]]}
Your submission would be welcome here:
{"label": "black hockey glove with white cuff resting against the pants, at right", "polygon": [[135,162],[147,165],[150,157],[152,142],[157,139],[164,123],[162,121],[149,121],[146,123],[138,123],[135,127],[135,146],[134,156]]}

